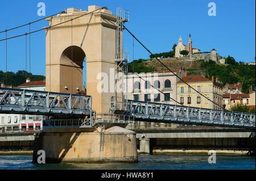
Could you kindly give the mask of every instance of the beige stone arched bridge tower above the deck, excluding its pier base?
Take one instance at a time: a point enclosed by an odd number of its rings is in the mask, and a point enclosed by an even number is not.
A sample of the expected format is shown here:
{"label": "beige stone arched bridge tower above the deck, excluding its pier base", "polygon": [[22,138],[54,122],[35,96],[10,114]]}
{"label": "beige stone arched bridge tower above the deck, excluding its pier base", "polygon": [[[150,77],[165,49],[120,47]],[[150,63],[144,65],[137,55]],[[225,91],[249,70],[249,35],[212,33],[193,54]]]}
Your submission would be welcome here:
{"label": "beige stone arched bridge tower above the deck, excluding its pier base", "polygon": [[97,85],[101,79],[97,76],[101,73],[110,75],[110,71],[115,69],[116,17],[107,8],[89,6],[87,11],[69,8],[66,13],[47,20],[49,26],[54,27],[46,29],[46,90],[79,93],[83,90],[86,64],[86,92],[92,96],[93,110],[109,112],[110,98],[115,93],[98,92]]}

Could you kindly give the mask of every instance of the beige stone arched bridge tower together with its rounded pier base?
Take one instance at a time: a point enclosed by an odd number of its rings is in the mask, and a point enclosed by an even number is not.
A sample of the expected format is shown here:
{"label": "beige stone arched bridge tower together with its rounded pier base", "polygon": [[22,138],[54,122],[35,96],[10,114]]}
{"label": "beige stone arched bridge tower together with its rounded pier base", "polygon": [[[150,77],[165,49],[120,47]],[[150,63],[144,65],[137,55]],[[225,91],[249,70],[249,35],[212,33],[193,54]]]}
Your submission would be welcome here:
{"label": "beige stone arched bridge tower together with its rounded pier base", "polygon": [[[117,65],[117,17],[107,8],[89,6],[88,11],[70,8],[47,20],[50,28],[46,28],[46,90],[79,93],[86,60],[86,93],[92,96],[93,110],[109,113],[110,100],[116,95],[110,82],[115,83]],[[108,85],[104,88],[108,90],[98,91],[106,75]],[[114,124],[102,129],[97,126],[46,129],[35,140],[34,163],[38,150],[45,151],[46,163],[138,161],[135,132]]]}

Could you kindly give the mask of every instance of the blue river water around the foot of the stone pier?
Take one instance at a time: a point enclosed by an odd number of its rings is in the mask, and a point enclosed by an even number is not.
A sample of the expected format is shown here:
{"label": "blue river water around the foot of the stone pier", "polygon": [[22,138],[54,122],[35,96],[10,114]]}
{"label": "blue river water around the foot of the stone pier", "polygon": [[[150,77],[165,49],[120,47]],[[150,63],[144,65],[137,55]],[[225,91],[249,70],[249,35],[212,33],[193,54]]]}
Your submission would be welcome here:
{"label": "blue river water around the foot of the stone pier", "polygon": [[253,169],[255,157],[246,155],[217,155],[216,163],[208,163],[207,154],[142,154],[138,163],[60,163],[34,164],[32,155],[0,155],[0,170],[6,169]]}

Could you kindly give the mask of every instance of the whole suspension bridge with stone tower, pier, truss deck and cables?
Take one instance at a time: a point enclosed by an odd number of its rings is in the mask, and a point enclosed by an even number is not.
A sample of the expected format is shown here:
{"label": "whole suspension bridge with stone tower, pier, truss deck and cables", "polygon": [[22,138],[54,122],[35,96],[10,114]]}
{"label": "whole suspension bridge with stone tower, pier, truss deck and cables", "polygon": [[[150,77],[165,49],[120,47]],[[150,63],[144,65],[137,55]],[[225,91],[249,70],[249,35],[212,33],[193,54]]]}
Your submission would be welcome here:
{"label": "whole suspension bridge with stone tower, pier, truss deck and cables", "polygon": [[[34,161],[37,158],[36,151],[40,149],[48,151],[49,162],[92,159],[137,161],[135,133],[120,128],[134,121],[245,128],[255,131],[255,114],[230,112],[221,105],[218,105],[220,110],[210,110],[186,107],[176,100],[177,105],[127,100],[127,88],[123,85],[121,93],[98,92],[98,74],[109,75],[112,68],[116,70],[116,74],[127,74],[129,71],[128,60],[123,52],[123,31],[129,32],[151,53],[123,25],[129,22],[128,11],[117,9],[116,15],[113,15],[107,7],[89,6],[87,11],[71,8],[44,19],[48,21],[48,27],[7,37],[7,32],[14,29],[11,28],[2,31],[6,32],[6,38],[0,40],[6,42],[7,61],[8,40],[46,31],[47,91],[0,89],[0,113],[44,115],[44,132],[36,139]],[[31,23],[24,26],[31,26]],[[78,90],[83,87],[82,64],[85,57],[87,95],[80,95]],[[156,60],[171,71],[157,57]],[[123,77],[122,79],[125,81]],[[189,86],[188,83],[187,85]],[[152,85],[151,87],[156,89]],[[113,127],[114,125],[119,125],[119,128]],[[86,149],[93,152],[80,154],[86,146]]]}

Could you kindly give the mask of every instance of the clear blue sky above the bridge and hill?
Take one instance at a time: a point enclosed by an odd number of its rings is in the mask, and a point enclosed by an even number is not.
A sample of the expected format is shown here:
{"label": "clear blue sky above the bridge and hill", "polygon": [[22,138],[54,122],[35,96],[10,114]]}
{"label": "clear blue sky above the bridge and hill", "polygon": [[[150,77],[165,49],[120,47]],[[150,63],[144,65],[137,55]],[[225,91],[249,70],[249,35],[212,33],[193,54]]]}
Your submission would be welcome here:
{"label": "clear blue sky above the bridge and hill", "polygon": [[[90,1],[90,0],[33,0],[1,1],[0,31],[42,17],[37,15],[38,3],[46,4],[46,15],[63,11],[67,7],[87,10],[88,5],[115,7],[130,11],[130,22],[126,24],[152,52],[166,52],[177,44],[179,36],[187,44],[191,33],[193,47],[201,51],[216,49],[221,56],[233,56],[237,61],[250,62],[255,57],[255,1]],[[208,3],[215,2],[217,16],[208,16]],[[46,21],[32,25],[32,30],[47,26]],[[9,36],[28,32],[28,27],[11,31]],[[0,39],[5,34],[0,34]],[[124,35],[124,48],[133,58],[133,39]],[[25,37],[8,41],[8,71],[25,70]],[[45,75],[44,31],[31,36],[31,72]],[[135,43],[134,58],[148,58],[149,54]],[[5,42],[0,42],[0,70],[5,71]],[[28,67],[27,67],[28,70]]]}

